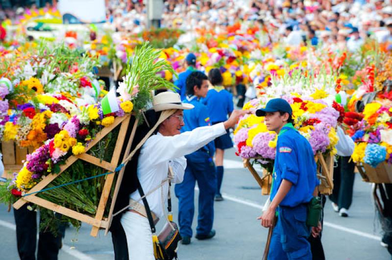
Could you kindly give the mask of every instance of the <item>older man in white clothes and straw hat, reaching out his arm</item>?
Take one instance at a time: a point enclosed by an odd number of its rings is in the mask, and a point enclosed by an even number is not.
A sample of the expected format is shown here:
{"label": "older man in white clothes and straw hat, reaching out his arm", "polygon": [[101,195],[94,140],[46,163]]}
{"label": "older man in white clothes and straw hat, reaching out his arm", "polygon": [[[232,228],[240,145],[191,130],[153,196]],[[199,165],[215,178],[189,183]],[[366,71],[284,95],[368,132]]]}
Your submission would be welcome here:
{"label": "older man in white clothes and straw hat, reaching out his arm", "polygon": [[[157,134],[149,137],[141,148],[137,175],[144,193],[147,194],[152,215],[158,221],[157,219],[164,216],[164,204],[168,199],[169,184],[162,182],[168,178],[169,166],[172,166],[174,173],[172,183],[182,182],[186,168],[184,155],[195,152],[225,134],[226,129],[234,127],[240,116],[249,111],[234,110],[230,118],[223,123],[180,133],[181,127],[184,126],[183,109],[192,109],[193,105],[181,103],[180,96],[173,92],[159,93],[154,97],[153,105],[155,112],[162,111],[158,121],[161,123]],[[148,219],[143,212],[135,210],[144,208],[142,202],[137,202],[140,201],[140,197],[138,191],[130,195],[131,201],[139,205],[132,207],[123,215],[121,224],[126,235],[129,259],[154,260]]]}

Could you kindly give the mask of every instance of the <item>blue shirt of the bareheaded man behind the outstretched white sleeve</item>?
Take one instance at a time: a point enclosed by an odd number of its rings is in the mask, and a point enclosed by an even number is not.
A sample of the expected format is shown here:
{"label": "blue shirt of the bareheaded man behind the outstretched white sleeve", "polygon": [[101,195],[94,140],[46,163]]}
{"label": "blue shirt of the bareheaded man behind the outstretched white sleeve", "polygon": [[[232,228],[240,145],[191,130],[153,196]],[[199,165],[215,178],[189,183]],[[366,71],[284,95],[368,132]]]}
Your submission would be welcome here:
{"label": "blue shirt of the bareheaded man behind the outstretched white sleeve", "polygon": [[[181,128],[181,132],[192,131],[198,127],[205,127],[211,125],[207,107],[203,105],[196,96],[186,97],[183,103],[192,104],[195,106],[195,108],[184,110],[185,126]],[[209,142],[203,147],[203,149],[209,153],[210,157],[214,156],[214,141]]]}

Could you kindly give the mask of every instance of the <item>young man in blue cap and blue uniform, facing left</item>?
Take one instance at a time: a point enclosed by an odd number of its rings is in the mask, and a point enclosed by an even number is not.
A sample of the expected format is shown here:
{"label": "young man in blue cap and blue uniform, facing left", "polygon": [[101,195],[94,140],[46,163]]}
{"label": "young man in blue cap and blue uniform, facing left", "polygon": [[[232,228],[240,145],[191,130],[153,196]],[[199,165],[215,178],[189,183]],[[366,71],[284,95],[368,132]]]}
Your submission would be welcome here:
{"label": "young man in blue cap and blue uniform, facing left", "polygon": [[[317,195],[319,180],[312,147],[293,126],[292,108],[280,98],[272,99],[266,108],[256,111],[265,116],[267,129],[278,134],[270,207],[259,217],[264,227],[278,220],[270,241],[269,260],[311,260],[307,238],[307,205]],[[313,233],[318,232],[313,228]]]}

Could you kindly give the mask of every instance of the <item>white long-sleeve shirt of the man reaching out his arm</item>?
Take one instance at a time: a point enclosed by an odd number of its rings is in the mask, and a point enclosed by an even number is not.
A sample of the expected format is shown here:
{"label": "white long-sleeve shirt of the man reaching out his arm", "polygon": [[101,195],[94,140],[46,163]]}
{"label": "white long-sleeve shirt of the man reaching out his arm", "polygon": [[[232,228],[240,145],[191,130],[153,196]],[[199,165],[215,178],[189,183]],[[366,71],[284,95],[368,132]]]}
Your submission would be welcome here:
{"label": "white long-sleeve shirt of the man reaching out his arm", "polygon": [[[187,166],[184,155],[197,151],[225,133],[223,123],[220,123],[214,126],[199,127],[174,136],[163,136],[158,132],[148,138],[141,148],[138,161],[138,178],[144,193],[149,193],[168,177],[169,164],[174,173],[172,183],[181,183]],[[164,215],[161,192],[163,192],[166,205],[168,191],[169,184],[165,182],[161,188],[146,197],[150,210],[159,218]],[[139,200],[139,191],[132,193],[130,198]],[[140,203],[143,204],[143,202]]]}

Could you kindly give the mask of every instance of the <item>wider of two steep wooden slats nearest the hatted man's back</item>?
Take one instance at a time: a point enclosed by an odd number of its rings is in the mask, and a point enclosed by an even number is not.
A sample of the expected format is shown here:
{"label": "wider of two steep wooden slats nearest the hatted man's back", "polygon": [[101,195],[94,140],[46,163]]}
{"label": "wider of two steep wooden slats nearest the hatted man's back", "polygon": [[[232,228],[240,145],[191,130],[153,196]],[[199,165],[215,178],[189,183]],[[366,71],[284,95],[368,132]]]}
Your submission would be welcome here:
{"label": "wider of two steep wooden slats nearest the hatted man's back", "polygon": [[[115,168],[117,167],[117,164],[119,163],[120,153],[121,153],[121,150],[123,149],[126,130],[128,129],[130,118],[131,118],[130,115],[128,115],[128,116],[126,116],[126,119],[123,120],[121,127],[120,127],[119,135],[117,136],[116,146],[115,146],[115,150],[113,152],[112,161],[111,161],[111,165],[113,165]],[[110,174],[106,177],[105,184],[103,185],[101,198],[99,199],[97,214],[95,217],[97,220],[101,220],[103,217],[103,213],[105,212],[106,203],[107,203],[107,200],[109,199],[110,190],[112,189],[114,175],[115,174]],[[93,226],[93,228],[91,229],[90,235],[93,237],[97,237],[98,231],[99,231],[99,227]]]}

